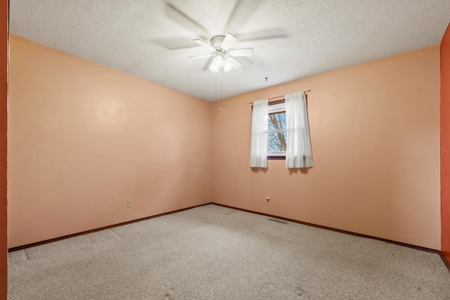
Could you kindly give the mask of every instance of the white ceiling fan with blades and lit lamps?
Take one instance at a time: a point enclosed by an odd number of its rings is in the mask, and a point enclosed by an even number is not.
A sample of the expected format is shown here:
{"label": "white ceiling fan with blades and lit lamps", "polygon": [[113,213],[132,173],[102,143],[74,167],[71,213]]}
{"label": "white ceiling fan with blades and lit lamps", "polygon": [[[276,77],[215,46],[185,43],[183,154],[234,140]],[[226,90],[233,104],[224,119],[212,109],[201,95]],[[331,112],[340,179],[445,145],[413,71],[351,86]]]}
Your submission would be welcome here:
{"label": "white ceiling fan with blades and lit lamps", "polygon": [[212,64],[210,65],[210,70],[213,72],[219,72],[221,67],[224,67],[224,71],[227,72],[231,70],[232,67],[238,69],[242,66],[238,60],[234,57],[239,56],[253,56],[255,49],[253,48],[243,48],[243,49],[232,49],[236,37],[233,34],[218,35],[213,37],[210,44],[202,41],[201,39],[194,39],[195,43],[207,48],[210,52],[203,56],[191,56],[189,58],[208,58],[214,56]]}

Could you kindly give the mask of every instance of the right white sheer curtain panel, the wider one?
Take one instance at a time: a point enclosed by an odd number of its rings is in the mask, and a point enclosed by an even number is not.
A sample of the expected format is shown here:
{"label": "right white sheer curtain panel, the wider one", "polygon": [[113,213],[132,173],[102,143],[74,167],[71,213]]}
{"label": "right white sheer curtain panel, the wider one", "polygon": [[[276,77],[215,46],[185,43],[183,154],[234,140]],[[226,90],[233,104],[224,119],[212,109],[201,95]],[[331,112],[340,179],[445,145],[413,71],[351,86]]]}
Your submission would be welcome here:
{"label": "right white sheer curtain panel, the wider one", "polygon": [[286,168],[313,167],[307,100],[304,92],[285,95]]}

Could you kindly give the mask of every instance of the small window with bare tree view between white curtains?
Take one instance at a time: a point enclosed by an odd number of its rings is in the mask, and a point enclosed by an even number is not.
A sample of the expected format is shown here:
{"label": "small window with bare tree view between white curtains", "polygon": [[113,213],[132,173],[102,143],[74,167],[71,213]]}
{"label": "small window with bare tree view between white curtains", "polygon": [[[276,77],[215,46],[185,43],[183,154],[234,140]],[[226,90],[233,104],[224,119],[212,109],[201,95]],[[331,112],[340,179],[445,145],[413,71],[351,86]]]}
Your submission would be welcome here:
{"label": "small window with bare tree view between white curtains", "polygon": [[267,158],[283,159],[286,155],[286,112],[284,100],[269,103]]}

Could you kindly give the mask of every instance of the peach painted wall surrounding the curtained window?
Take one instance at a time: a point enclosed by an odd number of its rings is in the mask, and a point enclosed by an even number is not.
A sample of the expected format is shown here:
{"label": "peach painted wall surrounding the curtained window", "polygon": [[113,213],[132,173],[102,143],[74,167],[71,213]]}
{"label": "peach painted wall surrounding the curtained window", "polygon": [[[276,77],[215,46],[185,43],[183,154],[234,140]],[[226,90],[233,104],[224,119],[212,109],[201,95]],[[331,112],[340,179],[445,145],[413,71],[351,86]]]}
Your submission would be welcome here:
{"label": "peach painted wall surrounding the curtained window", "polygon": [[[315,167],[290,172],[270,160],[253,172],[249,103],[308,89]],[[213,122],[214,202],[441,249],[439,45],[246,93],[222,108]]]}

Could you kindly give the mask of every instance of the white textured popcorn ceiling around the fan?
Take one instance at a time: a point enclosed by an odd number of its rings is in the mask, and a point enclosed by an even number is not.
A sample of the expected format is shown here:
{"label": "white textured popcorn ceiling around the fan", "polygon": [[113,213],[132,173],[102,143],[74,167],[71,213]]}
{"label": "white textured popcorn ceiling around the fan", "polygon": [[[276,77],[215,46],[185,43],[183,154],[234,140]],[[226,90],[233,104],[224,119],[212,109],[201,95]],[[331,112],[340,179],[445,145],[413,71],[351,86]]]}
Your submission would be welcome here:
{"label": "white textured popcorn ceiling around the fan", "polygon": [[[255,48],[223,74],[221,97],[438,44],[448,0],[11,0],[11,33],[216,99],[216,73],[193,39],[234,34]],[[268,77],[268,80],[265,80]]]}

